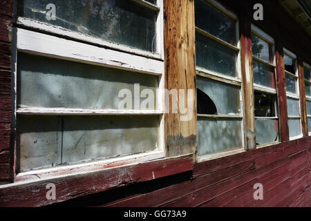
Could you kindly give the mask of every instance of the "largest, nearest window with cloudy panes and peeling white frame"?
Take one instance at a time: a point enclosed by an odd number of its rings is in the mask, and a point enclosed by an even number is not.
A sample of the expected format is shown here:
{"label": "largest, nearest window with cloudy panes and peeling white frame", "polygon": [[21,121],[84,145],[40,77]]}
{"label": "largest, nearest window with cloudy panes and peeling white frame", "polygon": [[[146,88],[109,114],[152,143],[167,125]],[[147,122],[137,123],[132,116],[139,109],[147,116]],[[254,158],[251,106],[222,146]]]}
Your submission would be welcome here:
{"label": "largest, nearest window with cloudy panes and peeling white frame", "polygon": [[[50,3],[55,20],[46,17]],[[164,157],[162,1],[24,0],[17,7],[19,175]],[[120,109],[124,99],[130,102]]]}

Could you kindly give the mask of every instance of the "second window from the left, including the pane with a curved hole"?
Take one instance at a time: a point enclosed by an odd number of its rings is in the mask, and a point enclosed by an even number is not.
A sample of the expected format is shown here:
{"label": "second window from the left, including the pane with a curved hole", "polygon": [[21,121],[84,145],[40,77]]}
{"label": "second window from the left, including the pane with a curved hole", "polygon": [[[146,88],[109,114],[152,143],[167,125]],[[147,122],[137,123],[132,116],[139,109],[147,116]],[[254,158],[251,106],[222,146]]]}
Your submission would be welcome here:
{"label": "second window from the left, including the pane with a curved hole", "polygon": [[238,20],[216,1],[195,1],[198,160],[243,149]]}

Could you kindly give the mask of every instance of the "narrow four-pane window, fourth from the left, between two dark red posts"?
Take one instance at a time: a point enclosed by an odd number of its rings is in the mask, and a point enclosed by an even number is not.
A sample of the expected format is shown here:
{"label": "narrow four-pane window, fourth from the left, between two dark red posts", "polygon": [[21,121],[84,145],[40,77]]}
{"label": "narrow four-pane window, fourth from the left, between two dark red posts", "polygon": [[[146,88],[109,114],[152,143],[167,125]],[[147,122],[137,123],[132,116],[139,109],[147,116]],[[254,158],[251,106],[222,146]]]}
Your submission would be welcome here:
{"label": "narrow four-pane window, fourth from the left, between two dark red posts", "polygon": [[284,48],[286,97],[288,103],[288,129],[290,140],[301,137],[298,65],[296,55]]}

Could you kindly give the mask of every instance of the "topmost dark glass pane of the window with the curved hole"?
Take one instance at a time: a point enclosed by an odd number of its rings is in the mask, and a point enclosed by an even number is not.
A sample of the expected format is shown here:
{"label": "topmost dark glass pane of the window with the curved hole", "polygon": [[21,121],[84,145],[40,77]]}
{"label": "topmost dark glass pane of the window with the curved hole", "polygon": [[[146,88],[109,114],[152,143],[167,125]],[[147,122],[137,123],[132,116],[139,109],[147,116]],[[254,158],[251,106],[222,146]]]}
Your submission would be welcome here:
{"label": "topmost dark glass pane of the window with the curved hole", "polygon": [[204,0],[194,1],[196,27],[236,45],[236,22]]}

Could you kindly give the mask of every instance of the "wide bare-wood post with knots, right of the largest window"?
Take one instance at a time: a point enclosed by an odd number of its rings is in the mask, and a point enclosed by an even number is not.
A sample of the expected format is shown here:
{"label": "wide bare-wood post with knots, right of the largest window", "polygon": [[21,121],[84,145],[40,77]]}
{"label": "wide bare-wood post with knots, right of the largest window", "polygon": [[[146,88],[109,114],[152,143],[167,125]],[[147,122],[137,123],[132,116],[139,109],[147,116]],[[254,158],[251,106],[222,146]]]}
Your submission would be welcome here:
{"label": "wide bare-wood post with knots, right of the largest window", "polygon": [[[164,67],[167,90],[192,90],[191,104],[188,106],[189,120],[182,120],[184,113],[166,113],[164,115],[164,137],[167,157],[194,153],[197,143],[196,128],[196,48],[194,29],[194,1],[164,0]],[[180,103],[179,96],[178,102]],[[172,106],[172,99],[165,100]]]}

